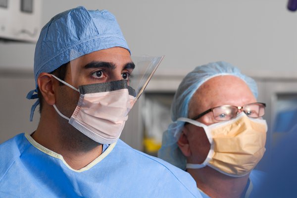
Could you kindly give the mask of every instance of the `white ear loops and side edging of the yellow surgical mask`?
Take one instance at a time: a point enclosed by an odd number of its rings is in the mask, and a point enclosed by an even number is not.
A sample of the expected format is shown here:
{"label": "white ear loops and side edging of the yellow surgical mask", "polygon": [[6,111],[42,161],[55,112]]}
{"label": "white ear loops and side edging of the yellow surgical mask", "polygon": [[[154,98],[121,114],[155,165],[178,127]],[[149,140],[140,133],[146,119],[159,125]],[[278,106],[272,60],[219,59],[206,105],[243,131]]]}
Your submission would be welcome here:
{"label": "white ear loops and side edging of the yellow surgical mask", "polygon": [[191,163],[187,163],[186,164],[186,168],[191,168],[191,169],[200,169],[200,168],[203,168],[205,167],[209,160],[213,157],[213,154],[214,154],[214,151],[213,151],[213,144],[212,144],[212,138],[211,138],[211,134],[210,134],[210,131],[208,129],[208,127],[205,125],[205,124],[202,124],[200,122],[197,122],[195,120],[191,120],[189,118],[178,118],[177,119],[178,121],[183,121],[183,122],[188,122],[188,123],[191,123],[191,124],[194,124],[195,126],[198,126],[198,127],[202,127],[205,131],[205,134],[207,136],[207,139],[210,143],[210,149],[208,151],[208,154],[206,156],[206,159],[201,163],[201,164],[191,164]]}

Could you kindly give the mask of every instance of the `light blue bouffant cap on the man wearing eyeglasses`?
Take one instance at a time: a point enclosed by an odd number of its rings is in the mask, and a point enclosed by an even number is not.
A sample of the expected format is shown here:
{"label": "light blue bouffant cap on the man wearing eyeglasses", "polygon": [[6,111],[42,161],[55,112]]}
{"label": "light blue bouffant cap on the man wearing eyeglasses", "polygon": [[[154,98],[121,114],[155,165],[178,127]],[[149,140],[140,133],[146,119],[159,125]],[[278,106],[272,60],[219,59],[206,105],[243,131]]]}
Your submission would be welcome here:
{"label": "light blue bouffant cap on the man wearing eyeglasses", "polygon": [[257,98],[258,91],[255,81],[243,75],[238,68],[230,63],[219,61],[196,67],[182,80],[174,95],[171,104],[171,119],[173,122],[168,126],[167,131],[163,133],[162,147],[158,151],[158,157],[185,170],[187,159],[177,146],[177,141],[185,123],[177,121],[177,119],[188,117],[190,100],[203,83],[213,77],[223,75],[233,75],[242,79],[247,83],[254,97]]}

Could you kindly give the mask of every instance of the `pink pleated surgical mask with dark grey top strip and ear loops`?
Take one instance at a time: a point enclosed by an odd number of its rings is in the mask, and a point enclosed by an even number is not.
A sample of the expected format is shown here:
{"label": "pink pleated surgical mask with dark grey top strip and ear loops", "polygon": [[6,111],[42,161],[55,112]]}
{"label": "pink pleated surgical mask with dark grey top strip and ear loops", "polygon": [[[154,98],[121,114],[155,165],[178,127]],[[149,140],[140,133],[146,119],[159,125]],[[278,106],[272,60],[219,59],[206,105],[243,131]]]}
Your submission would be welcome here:
{"label": "pink pleated surgical mask with dark grey top strip and ear loops", "polygon": [[116,142],[135,102],[135,91],[126,80],[79,86],[74,88],[56,76],[55,79],[78,91],[80,98],[71,118],[63,115],[53,104],[57,113],[69,120],[69,124],[100,144]]}

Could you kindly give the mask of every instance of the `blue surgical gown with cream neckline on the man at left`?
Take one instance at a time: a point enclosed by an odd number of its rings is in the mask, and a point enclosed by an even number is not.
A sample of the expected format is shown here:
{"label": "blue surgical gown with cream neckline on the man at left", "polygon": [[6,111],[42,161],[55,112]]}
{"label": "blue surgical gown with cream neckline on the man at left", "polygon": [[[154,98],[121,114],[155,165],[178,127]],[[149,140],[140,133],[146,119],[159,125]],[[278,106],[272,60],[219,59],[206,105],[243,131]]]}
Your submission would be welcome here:
{"label": "blue surgical gown with cream neckline on the man at left", "polygon": [[0,145],[0,198],[198,198],[185,171],[121,140],[88,166],[74,170],[63,157],[19,134]]}

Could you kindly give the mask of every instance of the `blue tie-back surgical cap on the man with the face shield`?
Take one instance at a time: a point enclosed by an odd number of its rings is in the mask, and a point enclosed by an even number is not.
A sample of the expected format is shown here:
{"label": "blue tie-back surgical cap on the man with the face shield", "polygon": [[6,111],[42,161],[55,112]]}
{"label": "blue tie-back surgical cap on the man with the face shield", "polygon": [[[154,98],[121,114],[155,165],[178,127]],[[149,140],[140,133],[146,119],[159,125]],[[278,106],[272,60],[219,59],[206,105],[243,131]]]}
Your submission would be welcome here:
{"label": "blue tie-back surgical cap on the man with the face shield", "polygon": [[[113,47],[128,48],[116,18],[107,10],[87,10],[79,6],[57,14],[43,27],[35,48],[35,90],[27,99],[37,99],[40,73],[50,73],[82,55]],[[76,51],[76,53],[71,53]],[[30,121],[39,99],[31,108]]]}

